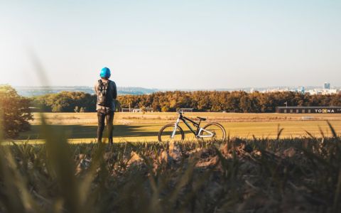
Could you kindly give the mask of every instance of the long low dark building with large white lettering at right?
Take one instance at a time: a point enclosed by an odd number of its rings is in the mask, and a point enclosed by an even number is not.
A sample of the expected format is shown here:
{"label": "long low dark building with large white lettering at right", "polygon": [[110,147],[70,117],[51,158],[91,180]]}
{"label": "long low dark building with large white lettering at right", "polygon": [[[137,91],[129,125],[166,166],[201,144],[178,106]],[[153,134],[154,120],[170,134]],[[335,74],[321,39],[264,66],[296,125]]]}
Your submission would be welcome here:
{"label": "long low dark building with large white lettering at right", "polygon": [[341,107],[277,107],[276,111],[288,114],[341,114]]}

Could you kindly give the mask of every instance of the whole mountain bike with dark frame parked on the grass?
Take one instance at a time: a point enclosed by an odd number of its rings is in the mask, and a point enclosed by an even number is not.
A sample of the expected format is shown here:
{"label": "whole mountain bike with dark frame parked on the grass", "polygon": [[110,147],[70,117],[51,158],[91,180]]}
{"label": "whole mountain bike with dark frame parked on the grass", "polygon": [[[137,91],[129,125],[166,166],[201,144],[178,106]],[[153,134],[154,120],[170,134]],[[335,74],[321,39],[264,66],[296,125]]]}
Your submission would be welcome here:
{"label": "whole mountain bike with dark frame parked on the grass", "polygon": [[[213,141],[219,140],[224,141],[226,138],[226,131],[221,124],[216,122],[211,122],[206,124],[204,127],[200,127],[201,121],[206,121],[205,118],[197,117],[199,122],[192,121],[187,117],[183,116],[183,113],[178,112],[178,119],[175,121],[175,124],[166,124],[163,126],[158,132],[158,141],[159,142],[167,142],[167,141],[183,141],[185,139],[185,133],[183,129],[179,126],[180,121],[188,126],[190,132],[194,134],[195,138],[202,139],[203,141]],[[192,124],[195,128],[190,126]]]}

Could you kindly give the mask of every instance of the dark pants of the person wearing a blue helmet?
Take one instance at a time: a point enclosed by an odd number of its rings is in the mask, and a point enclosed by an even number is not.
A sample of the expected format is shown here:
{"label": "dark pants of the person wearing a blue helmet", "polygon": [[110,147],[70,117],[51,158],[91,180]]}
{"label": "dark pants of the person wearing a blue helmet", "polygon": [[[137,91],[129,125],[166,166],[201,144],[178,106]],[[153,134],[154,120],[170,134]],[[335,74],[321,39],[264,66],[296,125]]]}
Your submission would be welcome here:
{"label": "dark pants of the person wearing a blue helmet", "polygon": [[114,111],[104,111],[102,109],[97,110],[98,128],[97,128],[97,142],[102,142],[102,136],[104,131],[104,120],[107,120],[107,130],[109,143],[112,143],[112,131],[114,121]]}

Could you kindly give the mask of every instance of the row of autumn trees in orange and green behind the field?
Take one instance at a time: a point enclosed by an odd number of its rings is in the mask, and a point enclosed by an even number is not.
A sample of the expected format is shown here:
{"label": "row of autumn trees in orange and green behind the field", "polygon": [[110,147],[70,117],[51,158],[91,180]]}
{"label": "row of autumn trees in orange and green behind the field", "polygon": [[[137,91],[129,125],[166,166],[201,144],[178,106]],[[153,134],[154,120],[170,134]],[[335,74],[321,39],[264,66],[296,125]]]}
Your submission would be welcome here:
{"label": "row of autumn trees in orange and green behind the field", "polygon": [[[95,111],[96,95],[84,92],[60,92],[31,98],[33,106],[42,111],[79,112]],[[153,111],[177,111],[193,108],[194,111],[274,112],[286,106],[341,106],[341,94],[310,95],[300,92],[155,92],[143,95],[120,95],[117,110],[121,108],[146,108]]]}

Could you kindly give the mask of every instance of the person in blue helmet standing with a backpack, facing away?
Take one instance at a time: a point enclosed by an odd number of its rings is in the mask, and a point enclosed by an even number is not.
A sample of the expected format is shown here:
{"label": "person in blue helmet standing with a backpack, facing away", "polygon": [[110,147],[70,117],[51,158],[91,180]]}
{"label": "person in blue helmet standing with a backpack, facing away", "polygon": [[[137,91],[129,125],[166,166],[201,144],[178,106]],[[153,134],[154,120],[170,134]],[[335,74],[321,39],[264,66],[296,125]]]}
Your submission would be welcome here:
{"label": "person in blue helmet standing with a backpack, facing away", "polygon": [[117,98],[117,87],[115,82],[109,80],[111,72],[108,67],[104,67],[99,79],[94,85],[94,91],[97,94],[96,111],[98,117],[97,142],[102,143],[104,131],[104,121],[107,120],[107,131],[109,143],[113,143],[112,131],[114,122],[115,99]]}

